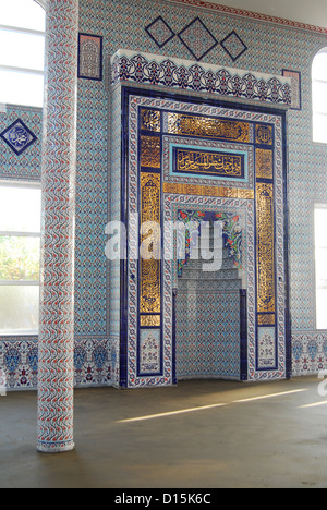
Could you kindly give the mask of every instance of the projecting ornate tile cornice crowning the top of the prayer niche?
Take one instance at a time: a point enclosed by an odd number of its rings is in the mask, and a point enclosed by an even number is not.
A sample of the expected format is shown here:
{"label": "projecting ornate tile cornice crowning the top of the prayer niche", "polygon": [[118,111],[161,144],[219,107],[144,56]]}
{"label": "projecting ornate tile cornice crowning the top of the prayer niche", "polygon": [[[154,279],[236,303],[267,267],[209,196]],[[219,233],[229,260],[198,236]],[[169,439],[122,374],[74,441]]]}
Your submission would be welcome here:
{"label": "projecting ornate tile cornice crowning the top of the prayer niche", "polygon": [[291,80],[244,70],[119,50],[111,59],[111,85],[121,82],[206,92],[225,98],[292,105]]}

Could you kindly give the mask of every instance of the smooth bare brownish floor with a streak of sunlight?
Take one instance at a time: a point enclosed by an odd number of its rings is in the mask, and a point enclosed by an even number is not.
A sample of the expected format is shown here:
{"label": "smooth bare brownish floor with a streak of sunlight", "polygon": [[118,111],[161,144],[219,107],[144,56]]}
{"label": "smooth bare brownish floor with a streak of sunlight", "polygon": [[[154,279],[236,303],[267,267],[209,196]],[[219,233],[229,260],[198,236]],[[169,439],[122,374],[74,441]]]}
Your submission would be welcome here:
{"label": "smooth bare brownish floor with a streak of sunlight", "polygon": [[[76,390],[76,449],[55,456],[36,451],[36,393],[9,393],[0,398],[0,487],[327,487],[327,397],[318,384]],[[313,403],[320,405],[304,406]]]}

